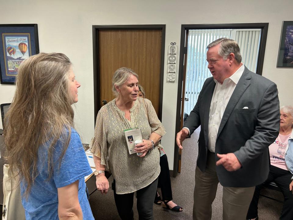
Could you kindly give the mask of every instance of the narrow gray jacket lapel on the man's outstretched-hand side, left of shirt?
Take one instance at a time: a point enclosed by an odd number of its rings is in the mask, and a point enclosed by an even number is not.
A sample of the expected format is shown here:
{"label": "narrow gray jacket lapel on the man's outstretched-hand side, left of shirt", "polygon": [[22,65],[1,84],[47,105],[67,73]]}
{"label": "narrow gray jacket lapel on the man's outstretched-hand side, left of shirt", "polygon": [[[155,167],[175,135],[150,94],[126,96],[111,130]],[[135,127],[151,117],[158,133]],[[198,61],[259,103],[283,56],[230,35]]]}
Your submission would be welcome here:
{"label": "narrow gray jacket lapel on the man's outstretched-hand side, left of shirt", "polygon": [[210,107],[211,101],[214,94],[216,83],[214,80],[211,81],[210,85],[208,86],[208,90],[204,94],[204,140],[205,145],[208,146],[208,120],[210,115]]}

